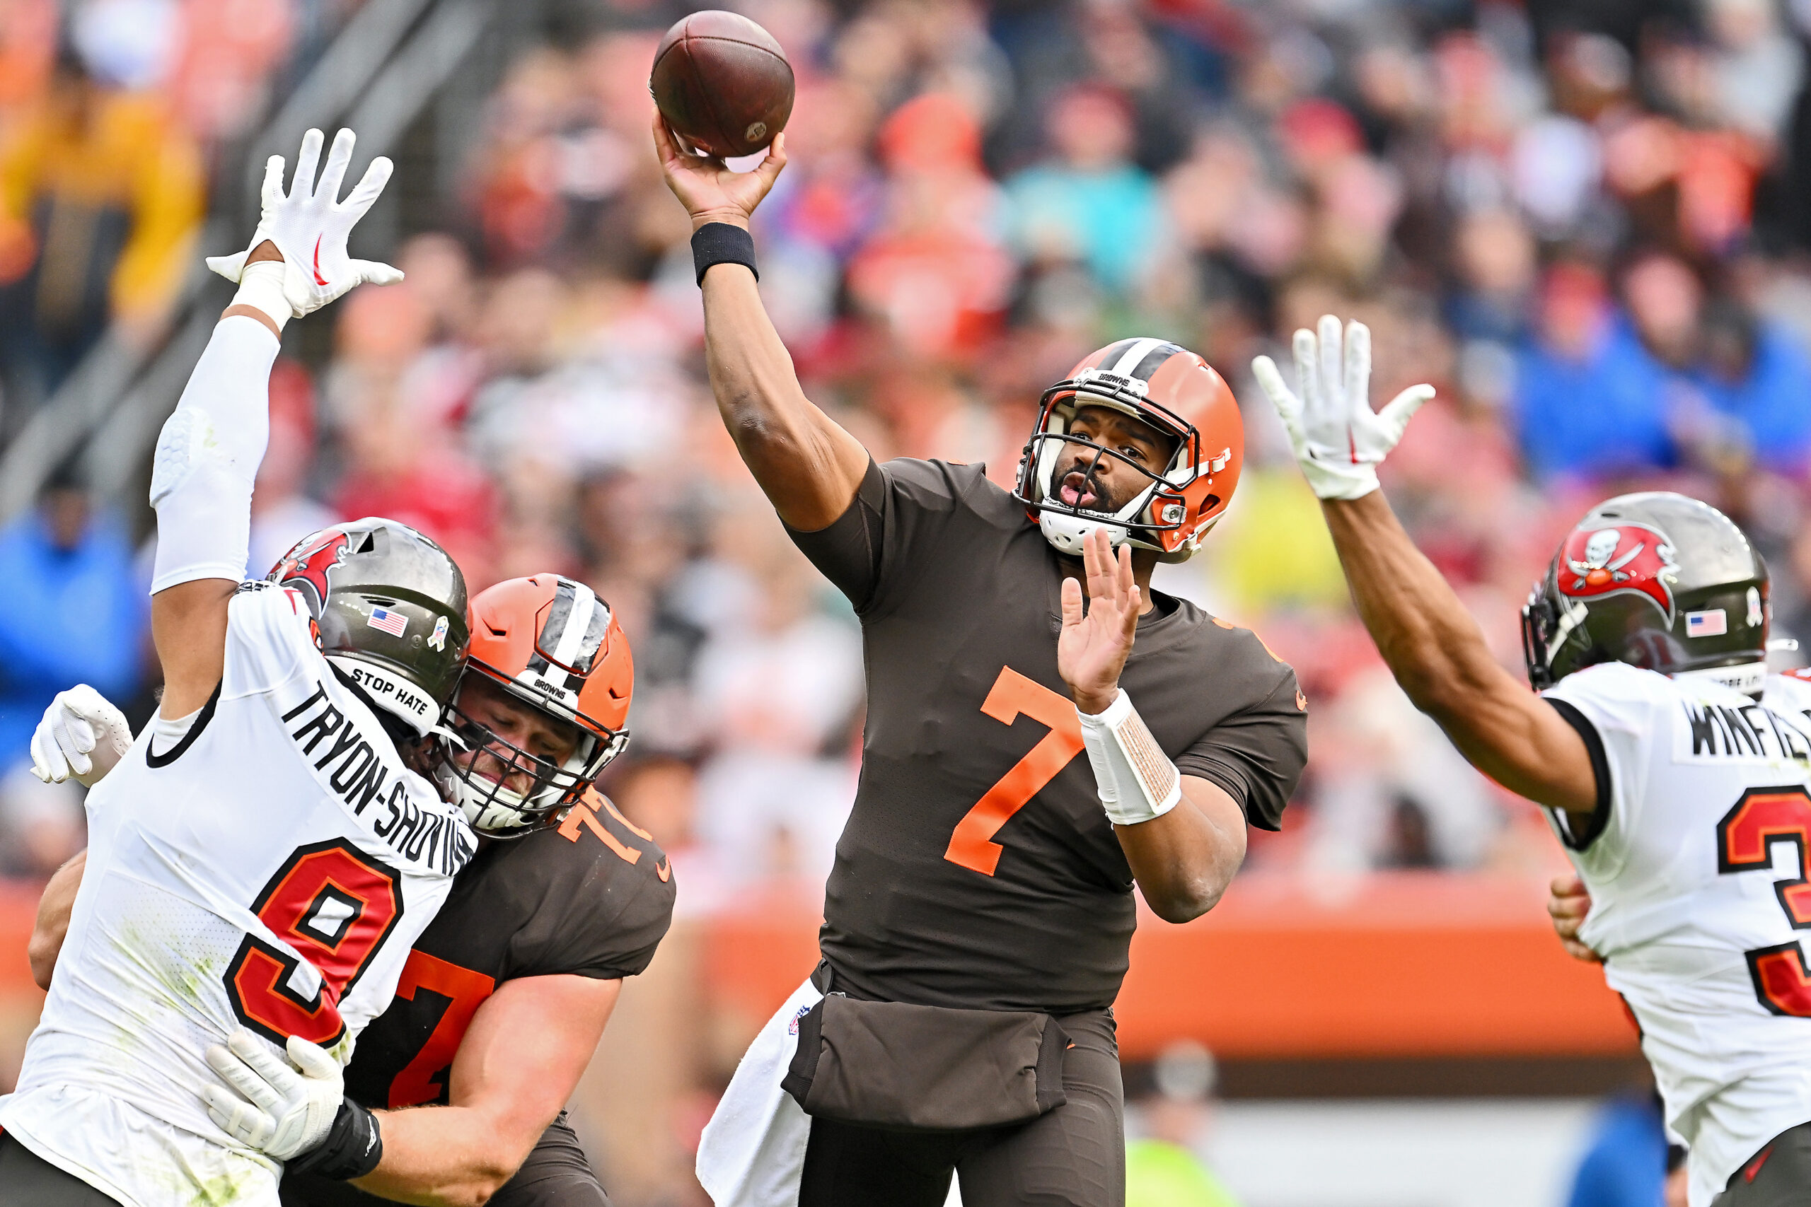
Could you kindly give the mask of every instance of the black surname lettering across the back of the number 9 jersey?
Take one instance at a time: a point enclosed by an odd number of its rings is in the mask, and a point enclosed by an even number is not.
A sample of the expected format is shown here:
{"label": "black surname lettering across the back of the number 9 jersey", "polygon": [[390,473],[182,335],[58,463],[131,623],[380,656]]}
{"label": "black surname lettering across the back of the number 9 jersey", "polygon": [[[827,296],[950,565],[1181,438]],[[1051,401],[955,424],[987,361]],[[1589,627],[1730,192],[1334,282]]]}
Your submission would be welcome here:
{"label": "black surname lettering across the back of the number 9 jersey", "polygon": [[[442,876],[465,867],[476,852],[467,832],[449,818],[427,814],[409,800],[402,778],[389,778],[373,742],[359,724],[328,700],[328,689],[315,680],[315,693],[283,715],[297,724],[290,738],[311,760],[315,778],[337,794],[353,816],[364,816],[378,798],[388,816],[371,823],[371,832],[391,843],[398,854],[438,870]],[[388,742],[378,735],[378,742]],[[315,751],[321,756],[315,758]],[[331,767],[331,769],[330,769]],[[389,778],[386,789],[386,778]]]}

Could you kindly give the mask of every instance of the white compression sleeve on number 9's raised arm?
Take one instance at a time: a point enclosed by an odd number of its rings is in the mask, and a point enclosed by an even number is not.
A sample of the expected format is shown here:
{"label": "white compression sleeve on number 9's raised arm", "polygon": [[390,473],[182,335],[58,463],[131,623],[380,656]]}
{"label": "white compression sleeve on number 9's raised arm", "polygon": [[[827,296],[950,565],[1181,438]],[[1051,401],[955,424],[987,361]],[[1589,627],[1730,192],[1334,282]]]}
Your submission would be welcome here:
{"label": "white compression sleeve on number 9's raised arm", "polygon": [[257,318],[221,318],[150,469],[158,557],[150,594],[194,579],[244,577],[252,480],[270,440],[270,366],[277,337]]}

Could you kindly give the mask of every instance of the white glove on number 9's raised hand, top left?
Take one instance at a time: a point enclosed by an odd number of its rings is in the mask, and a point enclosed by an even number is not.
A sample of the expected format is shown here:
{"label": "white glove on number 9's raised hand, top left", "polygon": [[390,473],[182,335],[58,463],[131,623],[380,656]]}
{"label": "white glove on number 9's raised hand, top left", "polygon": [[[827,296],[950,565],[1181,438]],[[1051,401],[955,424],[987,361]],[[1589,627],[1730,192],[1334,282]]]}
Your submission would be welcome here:
{"label": "white glove on number 9's raised hand, top left", "polygon": [[[302,136],[302,150],[295,157],[295,181],[290,192],[283,192],[283,156],[272,156],[264,163],[264,212],[257,223],[257,232],[244,252],[235,255],[210,255],[208,268],[226,280],[239,282],[244,277],[244,261],[261,242],[270,239],[283,252],[283,304],[288,313],[272,315],[281,326],[283,320],[301,318],[317,311],[340,297],[355,284],[393,284],[402,280],[402,273],[389,264],[377,261],[355,261],[346,252],[346,239],[359,224],[366,210],[384,192],[389,181],[391,163],[378,156],[366,168],[364,179],[351,190],[346,201],[339,201],[340,183],[346,179],[346,165],[351,163],[351,148],[357,136],[340,130],[333,136],[333,150],[328,152],[328,165],[315,181],[315,165],[321,161],[321,130],[308,130]],[[261,306],[261,299],[241,299],[250,306]]]}

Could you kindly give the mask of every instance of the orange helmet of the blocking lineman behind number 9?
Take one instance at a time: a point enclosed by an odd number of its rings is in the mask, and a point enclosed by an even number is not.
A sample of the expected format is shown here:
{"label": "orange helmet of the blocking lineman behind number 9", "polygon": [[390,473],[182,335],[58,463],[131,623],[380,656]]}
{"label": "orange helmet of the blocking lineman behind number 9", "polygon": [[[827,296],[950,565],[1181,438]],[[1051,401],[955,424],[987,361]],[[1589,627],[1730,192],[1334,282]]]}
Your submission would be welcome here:
{"label": "orange helmet of the blocking lineman behind number 9", "polygon": [[[455,697],[447,724],[465,749],[453,755],[453,794],[480,834],[520,838],[558,822],[628,744],[636,662],[610,606],[583,583],[536,574],[478,592],[464,682],[473,675],[578,727],[578,746],[556,764],[491,731]],[[485,775],[484,755],[505,778],[529,775],[527,789]]]}

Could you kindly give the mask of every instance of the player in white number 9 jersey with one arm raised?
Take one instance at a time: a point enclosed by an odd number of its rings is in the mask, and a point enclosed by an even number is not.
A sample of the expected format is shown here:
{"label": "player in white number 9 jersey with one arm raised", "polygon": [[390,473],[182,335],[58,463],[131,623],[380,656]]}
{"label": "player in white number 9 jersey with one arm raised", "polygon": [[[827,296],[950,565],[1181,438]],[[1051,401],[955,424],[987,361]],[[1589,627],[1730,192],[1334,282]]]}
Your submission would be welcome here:
{"label": "player in white number 9 jersey with one arm raised", "polygon": [[[252,244],[210,261],[239,293],[150,481],[165,695],[87,800],[87,872],[56,979],[18,1091],[0,1100],[9,1205],[275,1207],[283,1162],[371,1169],[382,1144],[337,1066],[476,851],[422,775],[465,661],[458,566],[369,519],[297,546],[279,581],[243,583],[283,326],[400,279],[346,252],[389,161],[340,201],[353,136],[340,130],[324,165],[322,141],[302,138],[288,192],[270,159]],[[210,1050],[279,1071],[255,1136],[219,1113],[235,1102]]]}

